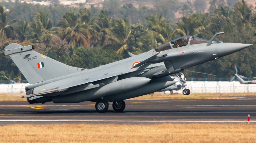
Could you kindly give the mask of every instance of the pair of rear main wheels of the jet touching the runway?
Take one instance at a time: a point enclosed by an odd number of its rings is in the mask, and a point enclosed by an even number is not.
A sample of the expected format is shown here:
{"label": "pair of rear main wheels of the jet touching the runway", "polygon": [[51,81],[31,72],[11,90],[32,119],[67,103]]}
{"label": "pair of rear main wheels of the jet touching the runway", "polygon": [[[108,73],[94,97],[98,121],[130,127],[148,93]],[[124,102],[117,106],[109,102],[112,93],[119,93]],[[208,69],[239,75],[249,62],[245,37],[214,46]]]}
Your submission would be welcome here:
{"label": "pair of rear main wheels of the jet touching the runway", "polygon": [[[109,102],[106,100],[99,100],[96,102],[95,108],[99,113],[104,113],[108,110],[108,104]],[[125,102],[123,100],[115,101],[112,106],[116,112],[122,112],[125,109]]]}

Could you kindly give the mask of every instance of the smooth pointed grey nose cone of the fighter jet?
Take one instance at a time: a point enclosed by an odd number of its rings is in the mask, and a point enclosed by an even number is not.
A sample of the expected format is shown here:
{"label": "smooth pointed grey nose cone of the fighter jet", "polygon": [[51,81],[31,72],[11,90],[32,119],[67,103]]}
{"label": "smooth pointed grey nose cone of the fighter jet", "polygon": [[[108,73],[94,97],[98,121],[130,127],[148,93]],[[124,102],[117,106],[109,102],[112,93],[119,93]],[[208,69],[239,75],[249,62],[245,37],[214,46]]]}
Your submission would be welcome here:
{"label": "smooth pointed grey nose cone of the fighter jet", "polygon": [[240,50],[243,50],[252,44],[242,44],[242,43],[220,43],[217,45],[218,56],[226,56]]}

